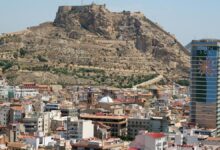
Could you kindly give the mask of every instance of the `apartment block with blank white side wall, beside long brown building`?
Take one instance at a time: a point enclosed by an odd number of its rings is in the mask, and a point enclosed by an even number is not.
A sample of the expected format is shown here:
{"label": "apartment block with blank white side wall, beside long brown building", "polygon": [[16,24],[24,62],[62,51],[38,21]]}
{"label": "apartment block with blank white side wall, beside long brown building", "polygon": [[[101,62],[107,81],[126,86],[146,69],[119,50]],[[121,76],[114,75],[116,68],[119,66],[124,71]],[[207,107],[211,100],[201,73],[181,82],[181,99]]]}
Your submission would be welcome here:
{"label": "apartment block with blank white side wall, beside long brown building", "polygon": [[67,118],[67,138],[85,139],[94,137],[94,125],[91,120]]}

